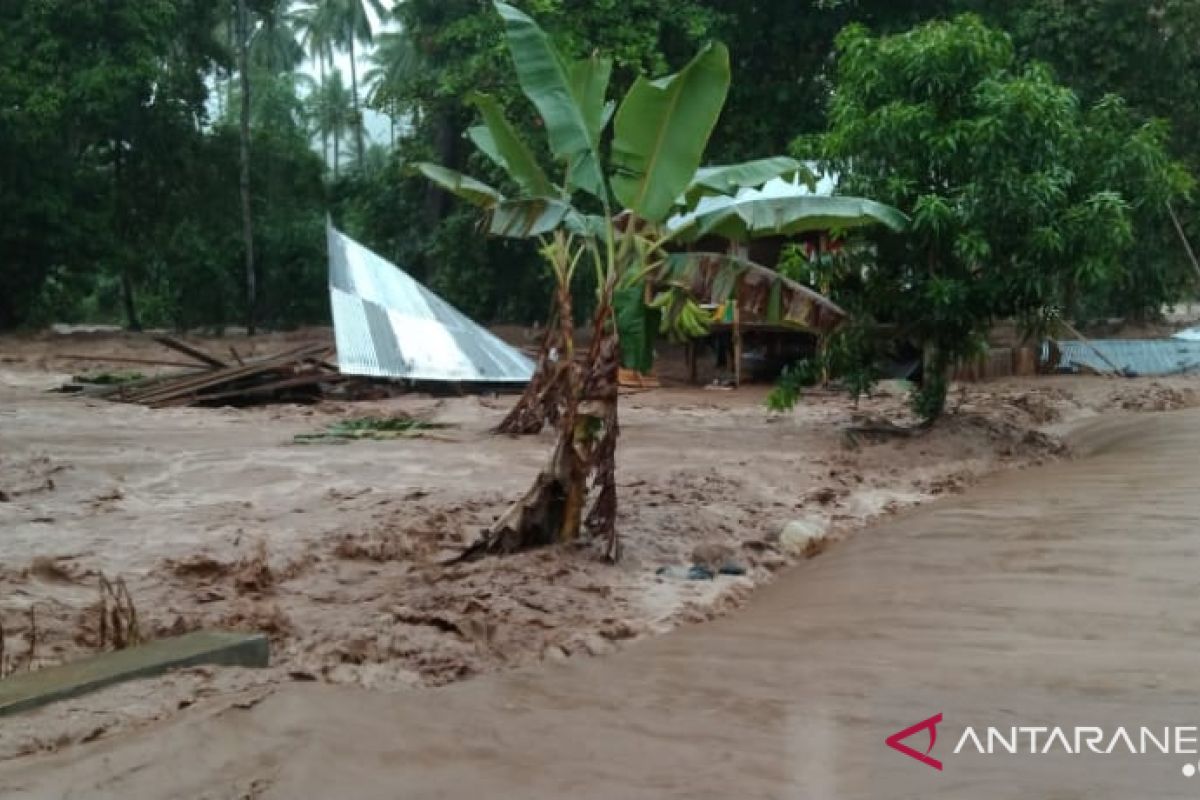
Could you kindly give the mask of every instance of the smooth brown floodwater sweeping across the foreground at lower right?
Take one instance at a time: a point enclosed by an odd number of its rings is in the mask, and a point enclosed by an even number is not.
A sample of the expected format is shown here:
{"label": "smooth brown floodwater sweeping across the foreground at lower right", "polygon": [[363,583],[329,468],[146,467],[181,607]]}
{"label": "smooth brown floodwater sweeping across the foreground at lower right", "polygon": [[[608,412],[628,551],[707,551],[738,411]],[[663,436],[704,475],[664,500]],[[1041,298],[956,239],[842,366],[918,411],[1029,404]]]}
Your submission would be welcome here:
{"label": "smooth brown floodwater sweeping across the foreground at lower right", "polygon": [[[1074,447],[612,656],[250,692],[5,762],[0,795],[1195,796],[1200,756],[954,752],[968,726],[1200,726],[1200,411],[1100,419]],[[938,712],[942,770],[884,745]]]}

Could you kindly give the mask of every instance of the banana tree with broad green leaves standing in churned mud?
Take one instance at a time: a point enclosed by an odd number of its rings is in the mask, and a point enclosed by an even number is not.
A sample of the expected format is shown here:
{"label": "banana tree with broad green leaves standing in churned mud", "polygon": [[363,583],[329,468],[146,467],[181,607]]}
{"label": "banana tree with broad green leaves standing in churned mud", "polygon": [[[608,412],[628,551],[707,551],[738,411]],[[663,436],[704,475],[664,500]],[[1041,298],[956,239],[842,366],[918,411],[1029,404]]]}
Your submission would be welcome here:
{"label": "banana tree with broad green leaves standing in churned mud", "polygon": [[[730,86],[728,52],[722,44],[706,47],[673,76],[637,78],[618,104],[606,97],[612,72],[608,59],[568,60],[527,14],[504,2],[493,5],[521,89],[541,118],[554,179],[500,104],[479,94],[470,102],[482,125],[468,136],[504,169],[518,192],[505,194],[438,164],[419,168],[437,185],[481,207],[493,235],[540,241],[554,276],[557,308],[529,391],[553,398],[558,441],[526,495],[464,558],[570,542],[587,533],[616,559],[620,552],[616,446],[622,351],[614,297],[618,291],[642,291],[647,281],[666,276],[676,290],[672,315],[691,319],[695,301],[678,289],[697,275],[720,270],[712,269],[712,258],[672,252],[697,227],[670,230],[667,221],[698,198],[796,175],[802,167],[790,158],[767,158],[700,168]],[[726,282],[728,291],[736,291],[738,282],[750,275],[744,267],[725,272],[742,276]],[[594,271],[598,293],[583,359],[575,353],[570,295],[578,269]],[[760,270],[754,271],[756,278],[762,276]]]}

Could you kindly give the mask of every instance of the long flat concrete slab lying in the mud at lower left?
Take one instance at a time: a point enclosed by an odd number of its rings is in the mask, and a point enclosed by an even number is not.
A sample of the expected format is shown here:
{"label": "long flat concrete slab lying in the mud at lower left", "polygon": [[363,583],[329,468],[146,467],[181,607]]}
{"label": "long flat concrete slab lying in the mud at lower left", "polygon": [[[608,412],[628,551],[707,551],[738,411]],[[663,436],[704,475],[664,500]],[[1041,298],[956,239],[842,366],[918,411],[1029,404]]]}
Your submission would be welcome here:
{"label": "long flat concrete slab lying in the mud at lower left", "polygon": [[265,667],[269,661],[270,646],[260,633],[197,631],[11,675],[0,680],[0,717],[181,667]]}

